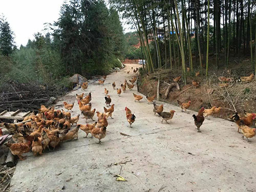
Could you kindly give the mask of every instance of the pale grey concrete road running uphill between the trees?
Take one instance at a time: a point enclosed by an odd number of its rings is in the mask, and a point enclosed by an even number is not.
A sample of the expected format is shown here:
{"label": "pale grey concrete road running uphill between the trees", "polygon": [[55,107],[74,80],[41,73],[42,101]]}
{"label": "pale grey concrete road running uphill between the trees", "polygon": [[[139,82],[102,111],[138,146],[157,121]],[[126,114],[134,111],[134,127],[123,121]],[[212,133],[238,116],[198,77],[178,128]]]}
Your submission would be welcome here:
{"label": "pale grey concrete road running uphill between the trees", "polygon": [[[248,143],[237,133],[236,124],[212,117],[198,133],[192,117],[196,112],[185,114],[166,103],[164,111],[176,113],[169,124],[161,124],[153,104],[146,99],[134,102],[132,93],[137,91],[118,97],[113,90],[113,81],[120,88],[125,78],[134,76],[131,67],[138,67],[126,66],[108,75],[104,86],[93,83],[85,91],[92,93],[92,106],[99,111],[105,106],[104,88],[115,104],[102,144],[90,135],[83,138],[86,134],[79,131],[77,141],[62,143],[54,152],[39,157],[29,154],[17,164],[11,191],[256,191],[256,138]],[[62,100],[75,102],[76,93],[82,91],[73,91]],[[125,106],[136,116],[132,128]],[[80,113],[77,102],[73,110],[73,116]],[[116,181],[115,175],[127,181]]]}

